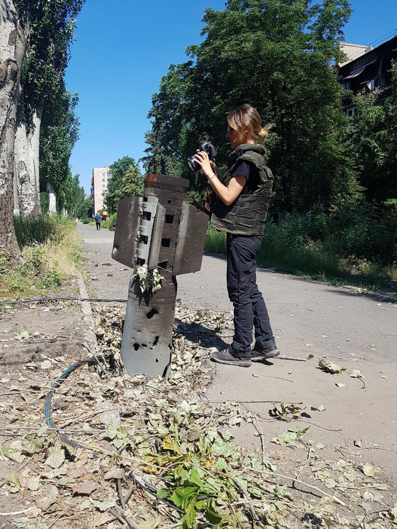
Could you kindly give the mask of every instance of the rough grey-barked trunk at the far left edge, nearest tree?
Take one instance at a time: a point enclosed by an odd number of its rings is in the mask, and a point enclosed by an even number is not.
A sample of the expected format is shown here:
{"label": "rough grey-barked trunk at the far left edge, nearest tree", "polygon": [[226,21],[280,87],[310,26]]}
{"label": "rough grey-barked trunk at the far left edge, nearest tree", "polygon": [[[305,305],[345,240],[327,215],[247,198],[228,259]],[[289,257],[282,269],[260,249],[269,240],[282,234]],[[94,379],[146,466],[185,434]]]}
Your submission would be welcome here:
{"label": "rough grey-barked trunk at the far left edge, nearest tree", "polygon": [[13,265],[21,259],[13,223],[14,139],[26,39],[12,0],[0,0],[0,50],[0,252]]}

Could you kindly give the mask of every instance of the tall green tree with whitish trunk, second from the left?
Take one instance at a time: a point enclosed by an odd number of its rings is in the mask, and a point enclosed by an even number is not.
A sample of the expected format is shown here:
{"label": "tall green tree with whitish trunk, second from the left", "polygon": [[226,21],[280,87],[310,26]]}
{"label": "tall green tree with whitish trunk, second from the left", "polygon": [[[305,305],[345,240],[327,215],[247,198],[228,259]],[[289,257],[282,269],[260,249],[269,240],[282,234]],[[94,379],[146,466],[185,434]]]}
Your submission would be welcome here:
{"label": "tall green tree with whitish trunk, second from the left", "polygon": [[[85,0],[15,0],[16,8],[28,34],[28,51],[22,65],[21,98],[15,138],[17,180],[29,179],[29,186],[19,185],[22,214],[38,213],[40,129],[48,99],[59,85],[70,58],[75,19]],[[31,194],[27,189],[31,189]],[[52,202],[49,201],[51,207]]]}

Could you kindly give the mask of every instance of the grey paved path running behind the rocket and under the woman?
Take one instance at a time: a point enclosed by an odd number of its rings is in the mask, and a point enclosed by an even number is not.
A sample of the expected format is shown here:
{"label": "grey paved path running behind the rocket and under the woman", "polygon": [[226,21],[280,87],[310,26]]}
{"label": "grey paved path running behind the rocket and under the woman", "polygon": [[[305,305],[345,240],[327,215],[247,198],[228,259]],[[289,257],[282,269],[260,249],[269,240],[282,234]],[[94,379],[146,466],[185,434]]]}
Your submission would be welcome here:
{"label": "grey paved path running behind the rocket and under the woman", "polygon": [[[87,244],[88,276],[93,293],[111,298],[126,298],[130,269],[111,259],[113,232],[78,226]],[[105,265],[110,263],[111,266]],[[231,311],[225,287],[225,260],[204,256],[202,269],[193,275],[178,276],[178,298],[182,304],[214,311]],[[103,266],[105,265],[105,266]],[[109,275],[111,274],[111,275]],[[277,344],[282,354],[314,359],[297,362],[275,359],[252,364],[249,369],[217,365],[207,392],[210,400],[285,400],[308,406],[311,425],[308,439],[328,444],[331,450],[354,440],[362,446],[379,446],[397,451],[397,305],[342,288],[301,279],[284,273],[259,269],[258,286],[268,306]],[[229,331],[229,334],[232,331]],[[342,376],[317,369],[318,359],[326,355],[346,368]],[[362,381],[350,378],[359,369]],[[337,387],[336,384],[344,384]],[[311,412],[311,406],[324,405],[326,411]],[[250,404],[268,416],[269,404]],[[305,426],[307,424],[301,424]],[[270,440],[288,426],[268,422],[263,426]],[[330,432],[341,428],[338,432]],[[236,439],[256,448],[253,428],[241,428]],[[270,448],[276,445],[270,445]],[[395,453],[379,449],[357,451],[357,457],[397,471]]]}

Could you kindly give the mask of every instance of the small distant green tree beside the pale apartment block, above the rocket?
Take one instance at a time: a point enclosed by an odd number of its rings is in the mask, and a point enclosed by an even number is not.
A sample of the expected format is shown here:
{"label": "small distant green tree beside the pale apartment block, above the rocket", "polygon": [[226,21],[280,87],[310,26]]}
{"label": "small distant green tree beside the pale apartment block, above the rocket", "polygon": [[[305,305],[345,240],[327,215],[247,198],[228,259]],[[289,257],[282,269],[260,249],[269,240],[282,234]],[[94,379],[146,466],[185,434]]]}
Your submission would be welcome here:
{"label": "small distant green tree beside the pale apartment block, above the rocket", "polygon": [[130,156],[124,156],[110,166],[112,178],[108,180],[104,203],[107,212],[116,213],[119,200],[130,196],[142,196],[143,176],[140,174],[138,162]]}

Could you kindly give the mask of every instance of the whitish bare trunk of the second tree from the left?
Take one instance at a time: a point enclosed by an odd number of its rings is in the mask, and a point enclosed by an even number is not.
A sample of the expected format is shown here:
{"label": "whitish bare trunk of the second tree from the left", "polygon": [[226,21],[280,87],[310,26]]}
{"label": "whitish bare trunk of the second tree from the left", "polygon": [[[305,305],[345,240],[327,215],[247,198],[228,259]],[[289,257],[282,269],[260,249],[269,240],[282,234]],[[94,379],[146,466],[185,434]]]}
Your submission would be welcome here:
{"label": "whitish bare trunk of the second tree from the left", "polygon": [[37,192],[34,160],[26,134],[23,112],[17,121],[14,145],[16,185],[20,214],[22,216],[40,213],[40,198]]}

